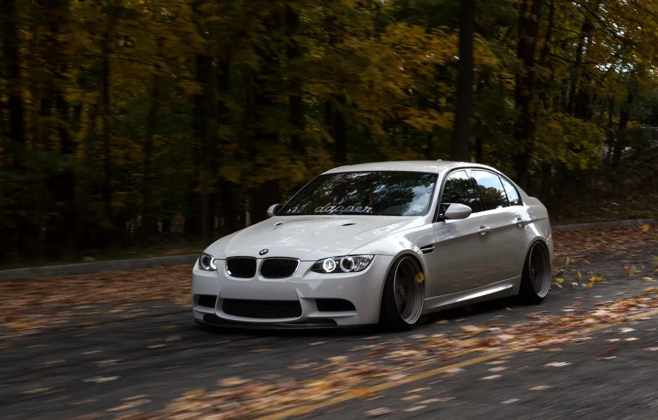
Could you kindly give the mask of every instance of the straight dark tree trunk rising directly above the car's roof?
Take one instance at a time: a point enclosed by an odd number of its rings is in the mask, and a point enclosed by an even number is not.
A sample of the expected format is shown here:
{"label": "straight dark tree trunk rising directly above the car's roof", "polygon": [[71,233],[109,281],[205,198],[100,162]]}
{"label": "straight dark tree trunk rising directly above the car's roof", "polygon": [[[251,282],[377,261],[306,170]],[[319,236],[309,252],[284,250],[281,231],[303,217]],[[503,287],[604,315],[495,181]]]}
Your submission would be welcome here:
{"label": "straight dark tree trunk rising directly above the car's roof", "polygon": [[457,75],[457,107],[450,159],[470,161],[470,113],[473,97],[473,30],[475,0],[460,0],[459,74]]}

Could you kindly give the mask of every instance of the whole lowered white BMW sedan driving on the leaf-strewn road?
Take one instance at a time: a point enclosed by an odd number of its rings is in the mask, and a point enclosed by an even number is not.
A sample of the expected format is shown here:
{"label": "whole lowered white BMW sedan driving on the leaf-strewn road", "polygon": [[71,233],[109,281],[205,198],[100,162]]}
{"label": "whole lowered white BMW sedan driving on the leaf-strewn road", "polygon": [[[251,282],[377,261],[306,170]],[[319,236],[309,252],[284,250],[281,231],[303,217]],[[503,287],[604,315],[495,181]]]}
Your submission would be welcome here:
{"label": "whole lowered white BMW sedan driving on the leaf-strewn road", "polygon": [[409,330],[434,311],[504,296],[539,303],[549,291],[544,205],[484,165],[340,167],[268,215],[195,263],[197,322]]}

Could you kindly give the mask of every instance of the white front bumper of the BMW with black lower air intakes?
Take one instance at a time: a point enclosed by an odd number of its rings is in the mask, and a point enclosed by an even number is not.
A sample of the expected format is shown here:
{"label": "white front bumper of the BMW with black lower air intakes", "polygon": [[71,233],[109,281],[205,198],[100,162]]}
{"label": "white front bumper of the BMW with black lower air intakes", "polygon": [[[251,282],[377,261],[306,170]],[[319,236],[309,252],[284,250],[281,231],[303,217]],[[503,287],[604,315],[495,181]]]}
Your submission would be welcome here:
{"label": "white front bumper of the BMW with black lower air intakes", "polygon": [[[393,257],[376,255],[367,269],[359,273],[321,274],[311,271],[315,261],[301,261],[293,276],[270,279],[260,276],[260,264],[253,278],[234,278],[226,273],[224,261],[217,261],[216,271],[192,271],[192,305],[195,320],[209,325],[251,326],[265,328],[318,328],[371,325],[378,322],[384,280]],[[212,297],[212,298],[211,298]],[[353,305],[332,308],[320,305],[322,300],[341,300]],[[252,311],[256,315],[237,316],[226,313],[226,303],[276,303],[301,307],[294,316],[263,315],[263,308]],[[322,309],[322,310],[320,310]],[[266,309],[265,309],[266,312]],[[285,313],[285,312],[282,312]]]}

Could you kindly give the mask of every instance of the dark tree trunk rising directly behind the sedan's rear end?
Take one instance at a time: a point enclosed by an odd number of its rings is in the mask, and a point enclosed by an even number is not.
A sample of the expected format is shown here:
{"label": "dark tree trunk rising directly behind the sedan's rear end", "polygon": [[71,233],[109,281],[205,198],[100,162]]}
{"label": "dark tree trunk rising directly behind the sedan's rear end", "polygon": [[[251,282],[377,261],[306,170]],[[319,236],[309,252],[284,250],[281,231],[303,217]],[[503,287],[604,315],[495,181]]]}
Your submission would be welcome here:
{"label": "dark tree trunk rising directly behind the sedan's rear end", "polygon": [[535,112],[532,109],[535,86],[535,53],[539,32],[540,11],[544,0],[523,0],[519,11],[519,44],[517,57],[523,63],[524,72],[517,74],[515,101],[519,117],[514,124],[514,137],[521,151],[514,157],[517,183],[526,190],[529,182],[532,136],[535,130]]}

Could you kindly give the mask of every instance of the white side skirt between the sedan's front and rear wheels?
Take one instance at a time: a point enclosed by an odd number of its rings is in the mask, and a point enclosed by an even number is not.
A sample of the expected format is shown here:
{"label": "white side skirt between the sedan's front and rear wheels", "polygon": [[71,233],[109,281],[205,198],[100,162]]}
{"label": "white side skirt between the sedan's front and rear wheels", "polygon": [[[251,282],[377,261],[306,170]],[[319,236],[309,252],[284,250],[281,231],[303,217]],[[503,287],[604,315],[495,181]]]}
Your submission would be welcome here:
{"label": "white side skirt between the sedan's front and rear wheels", "polygon": [[428,298],[424,300],[422,307],[422,314],[443,311],[453,307],[460,307],[470,303],[486,302],[488,300],[495,300],[505,298],[507,296],[515,296],[519,294],[521,285],[521,276],[508,278],[500,282],[487,284],[473,289],[464,290],[463,292],[455,292],[451,294],[444,294]]}

